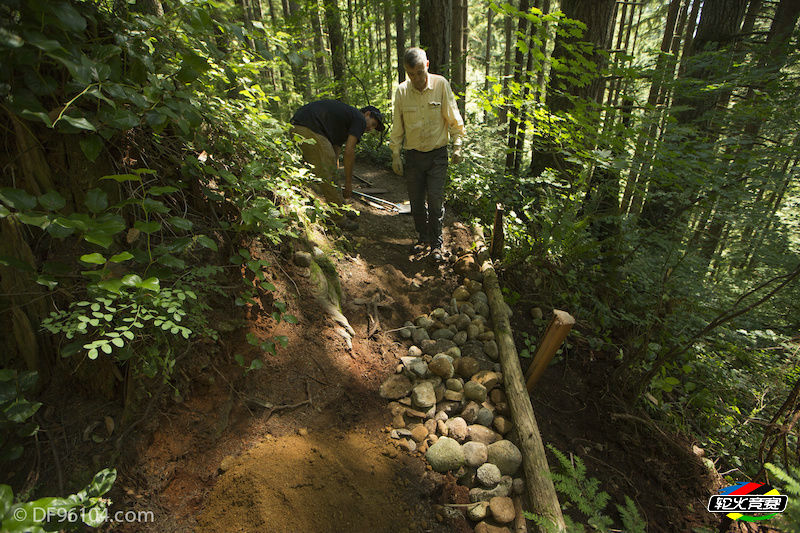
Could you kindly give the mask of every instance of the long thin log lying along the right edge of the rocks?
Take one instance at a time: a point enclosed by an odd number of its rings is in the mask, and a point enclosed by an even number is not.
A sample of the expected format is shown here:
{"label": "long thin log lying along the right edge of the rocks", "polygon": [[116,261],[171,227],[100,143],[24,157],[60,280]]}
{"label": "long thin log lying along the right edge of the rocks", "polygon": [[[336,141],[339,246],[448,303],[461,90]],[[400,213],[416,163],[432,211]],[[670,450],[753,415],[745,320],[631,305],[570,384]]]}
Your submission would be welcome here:
{"label": "long thin log lying along the right edge of the rocks", "polygon": [[[494,334],[500,354],[500,365],[503,368],[503,382],[506,387],[511,416],[517,428],[519,447],[522,452],[522,467],[525,471],[525,489],[533,512],[544,516],[552,522],[558,531],[565,531],[566,524],[561,514],[556,489],[550,477],[550,467],[544,453],[542,436],[533,414],[528,390],[519,365],[517,348],[511,335],[511,324],[508,321],[505,302],[500,292],[500,282],[490,261],[483,263],[483,289],[489,297],[492,310]],[[545,533],[544,527],[535,526],[534,531]]]}

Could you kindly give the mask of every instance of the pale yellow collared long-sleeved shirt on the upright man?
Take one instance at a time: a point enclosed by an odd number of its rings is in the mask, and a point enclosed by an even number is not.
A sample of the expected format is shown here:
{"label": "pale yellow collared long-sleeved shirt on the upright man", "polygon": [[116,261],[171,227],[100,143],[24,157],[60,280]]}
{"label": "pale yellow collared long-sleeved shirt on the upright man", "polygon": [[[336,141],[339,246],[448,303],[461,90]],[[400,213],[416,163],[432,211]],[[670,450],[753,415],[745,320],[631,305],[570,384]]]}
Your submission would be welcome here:
{"label": "pale yellow collared long-sleeved shirt on the upright man", "polygon": [[447,144],[449,138],[460,145],[464,135],[464,119],[456,106],[456,98],[446,79],[428,73],[428,85],[418,91],[409,80],[394,93],[394,116],[389,147],[399,155],[400,149],[430,152]]}

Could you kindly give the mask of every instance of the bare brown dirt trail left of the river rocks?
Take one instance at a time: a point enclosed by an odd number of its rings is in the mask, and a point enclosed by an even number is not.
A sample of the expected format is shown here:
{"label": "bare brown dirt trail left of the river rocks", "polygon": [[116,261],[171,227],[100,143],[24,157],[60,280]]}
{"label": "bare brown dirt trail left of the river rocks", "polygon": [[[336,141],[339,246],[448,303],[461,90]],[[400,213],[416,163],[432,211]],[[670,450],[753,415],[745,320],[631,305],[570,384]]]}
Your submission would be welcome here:
{"label": "bare brown dirt trail left of the river rocks", "polygon": [[[405,199],[391,173],[367,166],[356,172],[387,189],[383,198]],[[456,280],[449,265],[410,257],[410,216],[353,206],[361,212],[358,229],[346,232],[353,250],[333,254],[343,311],[356,331],[352,351],[310,297],[307,272],[287,257],[253,250],[281,263],[272,282],[299,324],[276,327],[252,313],[224,339],[226,353],[212,359],[231,363],[199,364],[183,403],[151,421],[151,436],[140,437],[132,464],[122,469],[124,495],[116,500],[120,508],[154,510],[150,531],[449,531],[431,511],[440,483],[421,458],[389,441],[383,428],[390,417],[377,390],[405,355],[395,334],[384,331],[441,305]],[[446,245],[466,245],[467,231],[448,226]],[[381,331],[367,339],[366,307],[354,300],[376,291],[393,303],[380,308]],[[221,321],[230,318],[223,314]],[[233,354],[258,355],[245,341],[248,332],[286,335],[289,344],[263,357],[262,370],[242,376]],[[272,416],[257,405],[296,404],[309,394],[310,405]]]}

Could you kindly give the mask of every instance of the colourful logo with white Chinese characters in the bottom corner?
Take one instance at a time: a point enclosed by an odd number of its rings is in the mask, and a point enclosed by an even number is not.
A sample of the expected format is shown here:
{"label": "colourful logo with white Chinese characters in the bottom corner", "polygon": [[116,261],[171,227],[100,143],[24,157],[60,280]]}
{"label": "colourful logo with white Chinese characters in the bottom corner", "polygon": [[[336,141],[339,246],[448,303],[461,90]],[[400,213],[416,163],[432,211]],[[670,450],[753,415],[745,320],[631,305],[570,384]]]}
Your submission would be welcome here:
{"label": "colourful logo with white Chinese characters in the bottom corner", "polygon": [[[726,487],[708,500],[708,510],[712,513],[726,513],[731,520],[756,522],[768,520],[786,510],[789,497],[764,483],[747,481]],[[752,516],[752,513],[769,513]]]}

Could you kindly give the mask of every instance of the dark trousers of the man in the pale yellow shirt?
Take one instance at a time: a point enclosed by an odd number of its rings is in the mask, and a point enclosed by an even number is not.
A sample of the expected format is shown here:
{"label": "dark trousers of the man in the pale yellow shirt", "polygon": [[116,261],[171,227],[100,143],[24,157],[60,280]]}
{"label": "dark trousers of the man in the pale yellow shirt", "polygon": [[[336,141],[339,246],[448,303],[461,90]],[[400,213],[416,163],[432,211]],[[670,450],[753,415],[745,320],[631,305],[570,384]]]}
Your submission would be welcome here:
{"label": "dark trousers of the man in the pale yellow shirt", "polygon": [[[447,180],[447,146],[430,152],[406,150],[405,179],[411,216],[421,241],[441,248],[444,220],[444,184]],[[426,208],[427,197],[427,208]]]}

